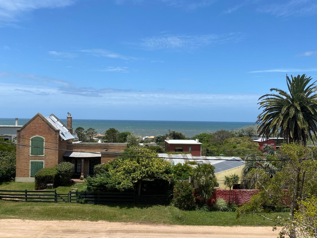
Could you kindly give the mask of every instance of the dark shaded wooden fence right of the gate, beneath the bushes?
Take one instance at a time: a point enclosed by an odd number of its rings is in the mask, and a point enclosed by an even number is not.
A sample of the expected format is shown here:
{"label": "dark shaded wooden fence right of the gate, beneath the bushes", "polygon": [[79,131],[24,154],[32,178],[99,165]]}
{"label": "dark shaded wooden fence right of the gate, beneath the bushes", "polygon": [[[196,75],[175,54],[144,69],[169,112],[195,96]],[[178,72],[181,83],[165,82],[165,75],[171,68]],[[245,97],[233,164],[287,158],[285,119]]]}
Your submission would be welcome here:
{"label": "dark shaded wooden fence right of the gate, beneath the bushes", "polygon": [[134,192],[69,192],[69,202],[92,204],[169,205],[168,195],[136,195]]}

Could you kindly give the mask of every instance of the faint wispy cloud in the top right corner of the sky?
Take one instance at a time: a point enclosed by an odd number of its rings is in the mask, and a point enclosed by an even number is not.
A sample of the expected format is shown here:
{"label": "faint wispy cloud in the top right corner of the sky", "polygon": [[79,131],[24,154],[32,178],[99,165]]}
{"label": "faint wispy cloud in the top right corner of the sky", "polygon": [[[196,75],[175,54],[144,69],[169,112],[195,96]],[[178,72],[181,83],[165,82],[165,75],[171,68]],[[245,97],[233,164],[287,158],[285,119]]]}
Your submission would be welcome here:
{"label": "faint wispy cloud in the top right corner of the sky", "polygon": [[257,10],[277,17],[307,16],[317,13],[317,3],[315,0],[279,1],[272,4],[266,3],[263,6],[259,6]]}

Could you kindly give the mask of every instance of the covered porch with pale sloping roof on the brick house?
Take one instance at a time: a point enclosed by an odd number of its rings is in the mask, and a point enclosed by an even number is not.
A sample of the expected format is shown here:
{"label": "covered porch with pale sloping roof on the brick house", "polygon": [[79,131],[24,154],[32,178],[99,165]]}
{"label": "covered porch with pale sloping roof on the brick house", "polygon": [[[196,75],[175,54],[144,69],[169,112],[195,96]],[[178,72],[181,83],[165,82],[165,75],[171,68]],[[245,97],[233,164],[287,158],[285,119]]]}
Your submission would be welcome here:
{"label": "covered porch with pale sloping roof on the brick house", "polygon": [[77,152],[68,151],[63,155],[65,162],[74,165],[73,178],[87,177],[94,175],[94,166],[101,163],[100,152]]}

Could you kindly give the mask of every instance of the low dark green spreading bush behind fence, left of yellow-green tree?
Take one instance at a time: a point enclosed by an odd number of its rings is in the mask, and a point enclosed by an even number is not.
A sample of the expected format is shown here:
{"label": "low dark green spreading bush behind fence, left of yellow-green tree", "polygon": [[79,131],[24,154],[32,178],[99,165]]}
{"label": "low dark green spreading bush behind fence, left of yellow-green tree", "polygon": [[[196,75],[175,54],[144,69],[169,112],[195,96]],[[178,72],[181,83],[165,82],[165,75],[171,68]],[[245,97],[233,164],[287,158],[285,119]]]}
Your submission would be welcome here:
{"label": "low dark green spreading bush behind fence, left of yellow-green tree", "polygon": [[94,177],[88,176],[86,178],[86,183],[88,191],[122,192],[134,189],[133,186],[123,184],[120,180],[114,178],[109,172],[97,174]]}

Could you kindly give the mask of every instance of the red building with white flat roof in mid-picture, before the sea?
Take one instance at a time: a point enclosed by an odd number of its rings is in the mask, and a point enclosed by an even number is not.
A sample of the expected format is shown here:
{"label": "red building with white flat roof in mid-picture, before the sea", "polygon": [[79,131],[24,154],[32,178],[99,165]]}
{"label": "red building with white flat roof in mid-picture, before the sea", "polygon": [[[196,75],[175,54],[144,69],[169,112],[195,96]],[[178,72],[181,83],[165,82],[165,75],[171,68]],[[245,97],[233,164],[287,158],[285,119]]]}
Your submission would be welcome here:
{"label": "red building with white flat roof in mid-picture, before the sea", "polygon": [[198,139],[196,140],[165,140],[166,152],[190,152],[193,156],[201,156],[201,145]]}

